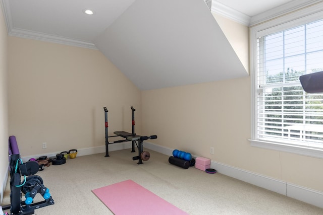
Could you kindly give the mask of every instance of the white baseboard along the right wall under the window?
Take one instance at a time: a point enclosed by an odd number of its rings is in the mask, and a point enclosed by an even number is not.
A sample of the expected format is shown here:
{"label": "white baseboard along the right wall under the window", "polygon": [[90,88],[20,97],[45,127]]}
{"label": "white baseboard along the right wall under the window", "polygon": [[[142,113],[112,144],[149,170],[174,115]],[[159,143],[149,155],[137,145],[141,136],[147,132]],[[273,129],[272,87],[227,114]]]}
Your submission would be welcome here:
{"label": "white baseboard along the right wall under the window", "polygon": [[[147,141],[144,142],[144,147],[168,156],[172,156],[174,150]],[[196,158],[198,156],[192,155],[192,157]],[[211,168],[216,169],[223,175],[323,208],[323,192],[301,187],[220,162],[211,161]]]}

